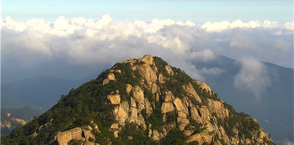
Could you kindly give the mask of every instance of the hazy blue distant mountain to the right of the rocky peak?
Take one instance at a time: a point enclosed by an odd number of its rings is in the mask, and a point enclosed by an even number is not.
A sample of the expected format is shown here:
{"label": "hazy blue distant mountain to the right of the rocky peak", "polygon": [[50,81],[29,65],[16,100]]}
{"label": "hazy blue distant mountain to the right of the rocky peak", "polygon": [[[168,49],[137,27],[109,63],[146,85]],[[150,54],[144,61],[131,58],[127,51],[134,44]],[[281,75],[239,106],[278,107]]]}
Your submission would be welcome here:
{"label": "hazy blue distant mountain to the right of the rocky peak", "polygon": [[270,85],[262,93],[260,100],[246,89],[236,88],[234,79],[241,66],[237,60],[218,55],[209,62],[195,61],[196,69],[219,68],[219,75],[205,77],[207,83],[221,99],[256,118],[275,140],[288,139],[293,142],[294,130],[294,70],[271,63],[264,63],[270,77]]}

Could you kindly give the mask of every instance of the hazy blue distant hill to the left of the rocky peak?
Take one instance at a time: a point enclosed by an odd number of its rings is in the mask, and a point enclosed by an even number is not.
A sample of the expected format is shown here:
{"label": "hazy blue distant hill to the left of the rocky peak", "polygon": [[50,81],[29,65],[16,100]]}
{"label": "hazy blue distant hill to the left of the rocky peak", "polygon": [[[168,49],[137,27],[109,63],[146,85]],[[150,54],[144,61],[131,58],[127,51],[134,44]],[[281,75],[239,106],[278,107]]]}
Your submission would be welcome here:
{"label": "hazy blue distant hill to the left of the rocky peak", "polygon": [[80,81],[44,75],[23,79],[1,86],[1,108],[29,105],[36,109],[42,107],[46,111],[60,99],[61,95],[67,94],[72,88],[81,84]]}

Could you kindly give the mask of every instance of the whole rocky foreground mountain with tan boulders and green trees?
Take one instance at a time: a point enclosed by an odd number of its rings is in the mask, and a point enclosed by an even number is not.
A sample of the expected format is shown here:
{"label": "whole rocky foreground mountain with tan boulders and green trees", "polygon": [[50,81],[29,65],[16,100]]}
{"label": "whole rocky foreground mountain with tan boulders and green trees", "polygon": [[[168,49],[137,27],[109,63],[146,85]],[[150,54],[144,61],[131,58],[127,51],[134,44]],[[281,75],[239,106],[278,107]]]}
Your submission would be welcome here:
{"label": "whole rocky foreground mountain with tan boulders and green trees", "polygon": [[[52,90],[54,91],[54,90]],[[2,145],[272,145],[203,82],[145,55],[72,89]]]}

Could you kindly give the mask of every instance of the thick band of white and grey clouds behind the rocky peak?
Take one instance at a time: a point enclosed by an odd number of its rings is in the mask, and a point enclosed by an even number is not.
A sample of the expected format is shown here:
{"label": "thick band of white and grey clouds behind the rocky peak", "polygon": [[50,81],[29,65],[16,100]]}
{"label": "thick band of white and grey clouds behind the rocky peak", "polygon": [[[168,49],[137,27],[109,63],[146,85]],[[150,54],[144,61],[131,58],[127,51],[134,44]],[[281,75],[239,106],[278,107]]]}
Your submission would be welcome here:
{"label": "thick band of white and grey clouds behind the rocky peak", "polygon": [[[191,61],[212,61],[216,54],[222,54],[239,59],[243,66],[236,76],[238,87],[247,84],[243,79],[246,59],[241,58],[293,68],[293,24],[236,20],[196,25],[171,19],[132,22],[115,21],[109,15],[97,21],[61,16],[55,22],[36,18],[15,22],[8,16],[1,22],[1,60],[34,68],[57,60],[70,65],[115,64],[151,54],[203,81],[205,76],[218,75],[223,70],[197,70]],[[263,65],[256,67],[264,69]],[[248,89],[254,92],[254,88]]]}

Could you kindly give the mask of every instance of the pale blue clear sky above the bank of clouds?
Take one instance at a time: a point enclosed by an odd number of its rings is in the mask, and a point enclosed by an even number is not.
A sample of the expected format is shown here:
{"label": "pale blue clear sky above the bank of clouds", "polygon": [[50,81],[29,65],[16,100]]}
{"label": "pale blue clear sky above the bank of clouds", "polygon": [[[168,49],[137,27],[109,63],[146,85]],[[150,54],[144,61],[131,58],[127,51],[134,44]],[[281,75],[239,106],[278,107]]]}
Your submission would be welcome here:
{"label": "pale blue clear sky above the bank of clouds", "polygon": [[2,0],[1,18],[14,21],[39,18],[55,21],[84,17],[97,20],[109,14],[114,20],[172,19],[190,20],[195,24],[207,21],[243,22],[250,20],[293,21],[293,0]]}

